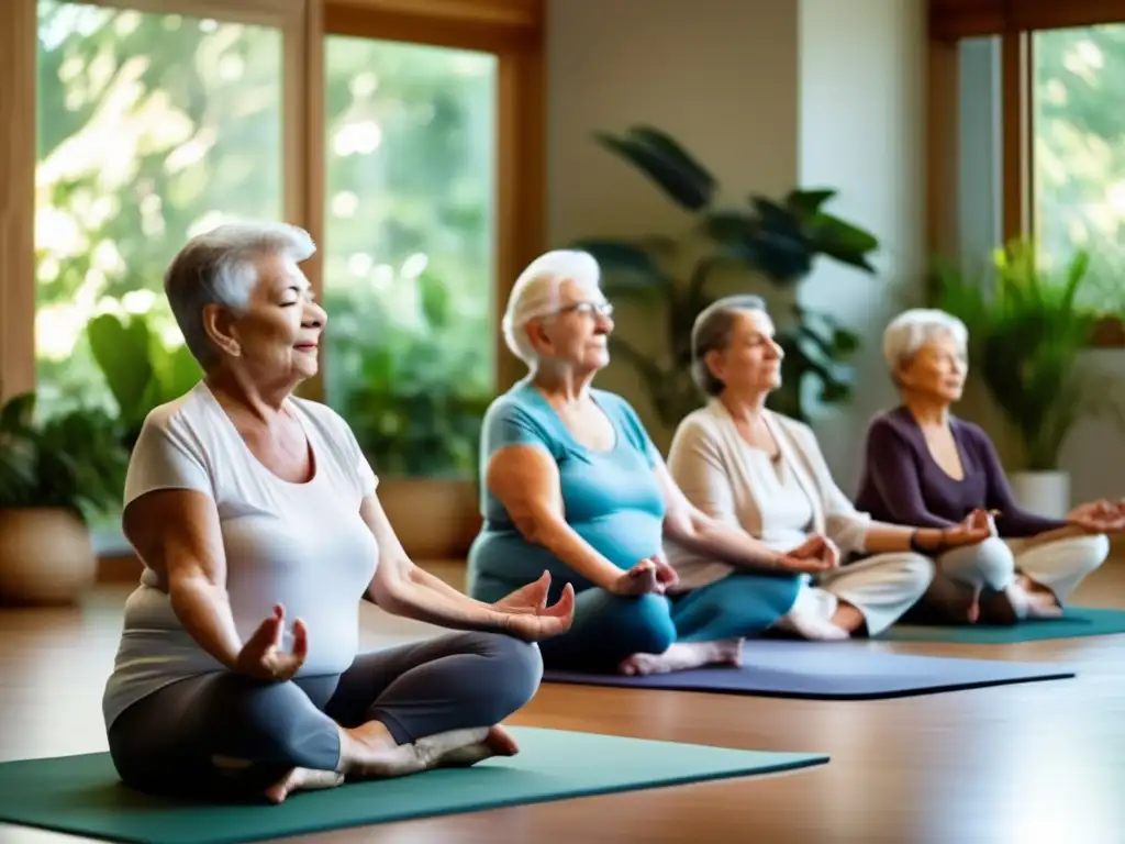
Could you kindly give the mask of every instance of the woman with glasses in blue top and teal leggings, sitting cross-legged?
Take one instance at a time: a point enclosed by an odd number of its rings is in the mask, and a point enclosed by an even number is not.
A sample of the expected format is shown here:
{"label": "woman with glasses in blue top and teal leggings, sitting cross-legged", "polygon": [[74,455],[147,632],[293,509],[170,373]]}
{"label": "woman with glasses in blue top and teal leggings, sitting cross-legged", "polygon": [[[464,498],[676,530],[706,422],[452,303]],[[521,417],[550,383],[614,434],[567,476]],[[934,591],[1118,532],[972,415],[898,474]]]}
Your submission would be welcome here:
{"label": "woman with glasses in blue top and teal leggings, sitting cross-legged", "polygon": [[[609,363],[611,314],[586,253],[549,252],[516,280],[504,336],[531,371],[485,416],[485,523],[469,555],[469,594],[495,601],[544,571],[551,598],[573,585],[570,630],[540,645],[548,667],[738,664],[741,639],[793,604],[792,575],[836,560],[774,551],[687,502],[632,407],[592,386]],[[681,590],[666,538],[738,574]]]}

